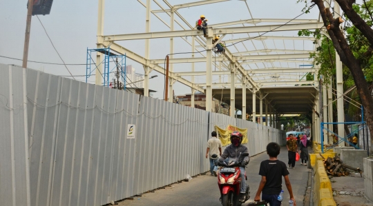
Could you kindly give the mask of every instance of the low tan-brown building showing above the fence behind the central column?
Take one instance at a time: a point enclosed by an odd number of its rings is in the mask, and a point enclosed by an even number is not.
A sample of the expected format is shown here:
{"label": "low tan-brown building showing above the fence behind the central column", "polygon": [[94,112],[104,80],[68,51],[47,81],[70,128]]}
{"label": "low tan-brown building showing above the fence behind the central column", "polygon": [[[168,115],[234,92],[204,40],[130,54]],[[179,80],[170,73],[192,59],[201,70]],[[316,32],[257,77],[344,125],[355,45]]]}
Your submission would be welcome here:
{"label": "low tan-brown building showing above the fence behind the central column", "polygon": [[[191,94],[180,95],[177,97],[181,105],[191,107]],[[213,106],[211,108],[212,112],[229,115],[229,105],[227,105],[226,103],[222,103],[222,102],[220,103],[220,101],[215,98],[213,98],[212,103],[213,103]],[[203,93],[194,94],[194,107],[201,109],[201,110],[206,110],[206,94],[203,94]]]}

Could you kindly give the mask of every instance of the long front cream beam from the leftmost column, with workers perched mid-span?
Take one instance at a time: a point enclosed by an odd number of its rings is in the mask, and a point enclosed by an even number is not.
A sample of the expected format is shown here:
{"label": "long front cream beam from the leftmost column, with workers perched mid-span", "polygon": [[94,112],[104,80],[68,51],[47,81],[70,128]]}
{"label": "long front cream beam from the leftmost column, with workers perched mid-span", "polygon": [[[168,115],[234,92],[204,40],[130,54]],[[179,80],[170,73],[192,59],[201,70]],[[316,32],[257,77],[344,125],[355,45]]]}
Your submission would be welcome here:
{"label": "long front cream beam from the leftmost column, with workers perched mid-span", "polygon": [[[287,25],[257,25],[248,27],[216,28],[212,30],[212,33],[209,34],[209,36],[212,37],[213,34],[240,34],[252,32],[281,32],[289,30],[314,30],[317,28],[321,28],[321,26],[323,25],[324,23],[293,23]],[[104,41],[124,41],[135,39],[157,39],[170,37],[200,36],[202,34],[203,32],[200,30],[145,32],[137,34],[115,34],[104,36]]]}

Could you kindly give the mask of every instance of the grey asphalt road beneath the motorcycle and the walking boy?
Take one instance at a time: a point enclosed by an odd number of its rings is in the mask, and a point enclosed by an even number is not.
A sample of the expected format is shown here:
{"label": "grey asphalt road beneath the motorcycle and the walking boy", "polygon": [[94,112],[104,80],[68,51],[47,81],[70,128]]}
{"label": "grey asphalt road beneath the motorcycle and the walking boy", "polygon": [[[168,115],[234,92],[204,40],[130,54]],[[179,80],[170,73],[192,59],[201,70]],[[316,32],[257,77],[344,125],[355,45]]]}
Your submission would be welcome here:
{"label": "grey asphalt road beneath the motorcycle and the walking boy", "polygon": [[[260,182],[259,166],[260,162],[268,158],[267,152],[252,156],[248,167],[246,168],[247,183],[250,186],[251,197],[243,205],[247,205],[254,200],[256,190]],[[280,161],[287,164],[287,149],[281,148]],[[296,198],[296,205],[303,206],[303,198],[307,189],[307,181],[309,177],[309,169],[306,166],[300,165],[300,161],[296,162],[295,169],[289,169],[289,179],[293,194]],[[221,205],[219,201],[218,179],[215,176],[200,175],[193,178],[189,182],[175,183],[166,186],[165,189],[157,189],[155,192],[148,192],[142,196],[135,196],[133,200],[126,199],[119,202],[119,206],[142,206],[142,205]],[[287,192],[285,181],[283,180],[284,200],[283,205],[288,205],[289,192]]]}

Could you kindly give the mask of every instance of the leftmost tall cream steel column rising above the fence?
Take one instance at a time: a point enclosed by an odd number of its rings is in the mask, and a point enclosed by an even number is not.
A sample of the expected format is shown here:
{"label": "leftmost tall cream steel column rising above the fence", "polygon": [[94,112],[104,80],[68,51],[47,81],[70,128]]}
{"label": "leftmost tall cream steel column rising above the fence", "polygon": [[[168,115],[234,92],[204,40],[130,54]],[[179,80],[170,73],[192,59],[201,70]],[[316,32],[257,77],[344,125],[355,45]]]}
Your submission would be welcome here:
{"label": "leftmost tall cream steel column rising above the fence", "polygon": [[[98,5],[98,17],[97,17],[97,49],[104,48],[103,37],[104,36],[104,14],[105,14],[105,0],[99,0]],[[103,54],[100,52],[96,52],[96,76],[95,76],[95,84],[102,85],[102,56]]]}

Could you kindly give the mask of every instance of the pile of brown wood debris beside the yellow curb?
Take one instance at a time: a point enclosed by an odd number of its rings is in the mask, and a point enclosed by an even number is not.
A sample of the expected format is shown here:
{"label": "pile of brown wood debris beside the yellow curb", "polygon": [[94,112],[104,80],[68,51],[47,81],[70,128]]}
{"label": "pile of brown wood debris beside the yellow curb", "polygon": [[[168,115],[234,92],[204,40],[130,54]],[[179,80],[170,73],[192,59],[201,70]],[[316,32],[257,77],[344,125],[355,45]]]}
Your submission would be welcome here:
{"label": "pile of brown wood debris beside the yellow curb", "polygon": [[334,157],[334,158],[328,157],[327,159],[323,158],[323,162],[324,162],[325,171],[327,172],[328,175],[331,175],[331,176],[349,176],[350,175],[349,169],[360,173],[360,176],[363,173],[363,171],[358,167],[355,168],[355,167],[351,167],[349,165],[344,164],[341,158],[339,157]]}

